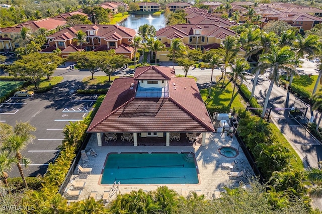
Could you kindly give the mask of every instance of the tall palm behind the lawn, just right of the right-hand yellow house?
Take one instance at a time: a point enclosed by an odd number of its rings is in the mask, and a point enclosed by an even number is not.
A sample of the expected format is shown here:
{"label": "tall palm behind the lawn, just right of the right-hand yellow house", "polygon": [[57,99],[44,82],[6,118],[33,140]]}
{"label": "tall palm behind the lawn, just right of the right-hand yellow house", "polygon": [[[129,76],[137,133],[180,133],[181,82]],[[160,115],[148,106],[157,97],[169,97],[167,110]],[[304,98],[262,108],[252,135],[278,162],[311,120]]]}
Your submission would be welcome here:
{"label": "tall palm behind the lawn, just right of the right-hand yellow house", "polygon": [[224,83],[225,83],[227,67],[230,62],[233,62],[234,58],[236,57],[236,55],[239,51],[239,45],[237,43],[236,37],[227,36],[225,38],[225,40],[222,42],[221,50],[222,50],[221,51],[222,61],[225,66],[224,77],[223,77],[223,81],[222,81],[222,87],[223,87]]}

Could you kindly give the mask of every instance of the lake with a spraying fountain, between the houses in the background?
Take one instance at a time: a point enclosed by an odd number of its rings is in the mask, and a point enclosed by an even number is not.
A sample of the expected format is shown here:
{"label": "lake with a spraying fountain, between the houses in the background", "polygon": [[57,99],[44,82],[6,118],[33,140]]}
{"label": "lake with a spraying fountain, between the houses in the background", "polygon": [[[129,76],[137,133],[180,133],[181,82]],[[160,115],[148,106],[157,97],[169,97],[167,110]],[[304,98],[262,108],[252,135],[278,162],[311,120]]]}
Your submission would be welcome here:
{"label": "lake with a spraying fountain, between the houses in the background", "polygon": [[[150,17],[149,17],[150,16]],[[163,14],[154,16],[149,14],[130,14],[128,18],[120,22],[118,25],[138,30],[141,25],[153,25],[156,30],[166,27],[165,16]]]}

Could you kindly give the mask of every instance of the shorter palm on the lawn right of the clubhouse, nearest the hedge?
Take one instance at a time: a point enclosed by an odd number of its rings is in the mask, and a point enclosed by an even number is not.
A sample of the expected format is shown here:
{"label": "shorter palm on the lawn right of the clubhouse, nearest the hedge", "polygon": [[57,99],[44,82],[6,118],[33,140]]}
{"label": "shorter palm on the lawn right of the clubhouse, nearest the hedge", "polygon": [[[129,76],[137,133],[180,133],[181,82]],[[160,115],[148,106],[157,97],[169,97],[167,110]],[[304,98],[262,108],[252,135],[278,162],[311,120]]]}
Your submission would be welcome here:
{"label": "shorter palm on the lawn right of the clubhouse, nearest the hedge", "polygon": [[245,61],[245,59],[237,58],[233,63],[229,63],[229,66],[231,68],[230,74],[232,74],[232,79],[234,81],[230,100],[231,104],[233,100],[233,93],[235,92],[237,78],[240,78],[240,85],[242,85],[246,75],[245,70],[249,69],[250,65],[247,61]]}

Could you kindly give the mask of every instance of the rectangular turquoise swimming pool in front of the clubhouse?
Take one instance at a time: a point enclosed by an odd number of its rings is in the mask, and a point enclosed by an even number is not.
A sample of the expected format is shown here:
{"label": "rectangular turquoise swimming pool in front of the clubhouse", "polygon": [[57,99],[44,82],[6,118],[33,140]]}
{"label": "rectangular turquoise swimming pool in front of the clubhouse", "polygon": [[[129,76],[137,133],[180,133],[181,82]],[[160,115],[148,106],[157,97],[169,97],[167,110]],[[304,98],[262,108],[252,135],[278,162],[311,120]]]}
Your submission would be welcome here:
{"label": "rectangular turquoise swimming pool in front of the clubhouse", "polygon": [[191,161],[187,156],[187,153],[110,153],[101,184],[198,184],[195,157]]}

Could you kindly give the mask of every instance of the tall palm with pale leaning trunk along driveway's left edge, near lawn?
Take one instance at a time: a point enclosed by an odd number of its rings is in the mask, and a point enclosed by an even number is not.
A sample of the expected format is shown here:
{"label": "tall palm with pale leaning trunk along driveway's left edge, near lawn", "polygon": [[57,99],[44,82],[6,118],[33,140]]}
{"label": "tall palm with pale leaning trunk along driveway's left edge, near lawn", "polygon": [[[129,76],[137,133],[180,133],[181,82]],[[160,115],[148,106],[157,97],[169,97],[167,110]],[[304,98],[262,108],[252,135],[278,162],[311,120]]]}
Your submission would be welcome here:
{"label": "tall palm with pale leaning trunk along driveway's left edge, near lawn", "polygon": [[[259,51],[262,51],[262,54],[270,52],[271,46],[277,44],[278,40],[276,37],[276,34],[274,32],[265,33],[263,32],[260,38],[260,45],[255,45],[254,48],[250,51],[249,55],[253,55],[258,53]],[[259,67],[260,65],[258,65]],[[253,82],[253,88],[251,92],[250,99],[254,96],[257,79],[260,74],[261,69],[256,68],[255,69],[255,76],[254,76],[254,82]]]}

